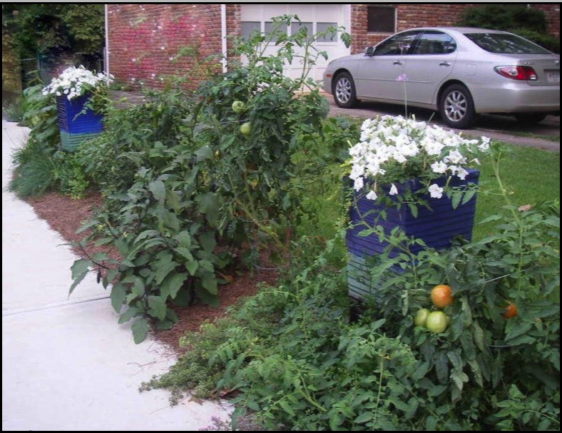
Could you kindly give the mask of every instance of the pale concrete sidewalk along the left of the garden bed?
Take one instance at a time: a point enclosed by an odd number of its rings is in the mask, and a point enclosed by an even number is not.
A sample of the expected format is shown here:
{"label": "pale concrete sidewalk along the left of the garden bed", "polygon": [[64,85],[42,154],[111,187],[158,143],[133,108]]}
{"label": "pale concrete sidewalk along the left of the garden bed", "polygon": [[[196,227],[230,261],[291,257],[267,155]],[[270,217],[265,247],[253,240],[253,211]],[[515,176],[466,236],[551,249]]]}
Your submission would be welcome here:
{"label": "pale concrete sidewalk along the left of the garden bed", "polygon": [[230,407],[138,392],[175,357],[135,345],[109,293],[86,279],[68,299],[75,260],[31,206],[7,192],[26,128],[2,121],[2,430],[198,430]]}

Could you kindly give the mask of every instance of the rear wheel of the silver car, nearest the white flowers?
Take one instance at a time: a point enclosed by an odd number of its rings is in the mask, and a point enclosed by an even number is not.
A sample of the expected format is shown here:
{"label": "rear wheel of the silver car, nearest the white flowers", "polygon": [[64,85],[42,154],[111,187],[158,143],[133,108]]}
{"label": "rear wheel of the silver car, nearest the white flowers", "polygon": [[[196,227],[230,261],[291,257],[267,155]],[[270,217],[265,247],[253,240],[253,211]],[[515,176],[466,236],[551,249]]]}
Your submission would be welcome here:
{"label": "rear wheel of the silver car, nearest the white flowers", "polygon": [[461,84],[451,84],[441,95],[439,113],[451,128],[469,128],[476,120],[474,102],[469,89]]}

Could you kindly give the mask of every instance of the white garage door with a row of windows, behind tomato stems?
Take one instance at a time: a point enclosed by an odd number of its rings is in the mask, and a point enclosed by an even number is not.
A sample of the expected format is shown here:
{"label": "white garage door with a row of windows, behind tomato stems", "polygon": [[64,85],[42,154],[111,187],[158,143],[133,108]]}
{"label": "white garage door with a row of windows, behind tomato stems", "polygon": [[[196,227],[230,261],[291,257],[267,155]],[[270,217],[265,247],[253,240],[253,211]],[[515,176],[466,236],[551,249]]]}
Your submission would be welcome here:
{"label": "white garage door with a row of windows, behind tomato stems", "polygon": [[[349,32],[351,14],[349,4],[242,4],[240,12],[242,36],[247,36],[253,29],[258,29],[264,34],[267,33],[271,29],[272,17],[285,14],[296,15],[301,21],[301,23],[292,24],[287,29],[289,34],[298,31],[299,26],[306,26],[308,34],[315,34],[329,26],[344,26]],[[310,72],[312,78],[321,80],[328,61],[347,56],[349,49],[345,47],[339,36],[333,40],[317,41],[316,46],[317,49],[326,51],[328,55],[327,61],[320,56]],[[269,50],[274,50],[274,48]],[[296,78],[301,73],[302,66],[298,60],[294,60],[285,68],[285,74],[291,78]]]}

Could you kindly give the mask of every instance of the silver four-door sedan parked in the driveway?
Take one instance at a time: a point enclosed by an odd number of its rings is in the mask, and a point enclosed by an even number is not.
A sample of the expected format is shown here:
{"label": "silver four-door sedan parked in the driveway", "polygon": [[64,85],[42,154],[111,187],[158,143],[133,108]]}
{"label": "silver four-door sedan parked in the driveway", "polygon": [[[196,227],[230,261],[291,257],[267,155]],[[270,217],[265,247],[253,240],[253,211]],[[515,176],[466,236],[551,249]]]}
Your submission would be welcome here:
{"label": "silver four-door sedan parked in the driveway", "polygon": [[406,101],[452,128],[469,128],[479,113],[537,123],[560,115],[560,56],[506,31],[411,29],[331,61],[323,86],[343,108]]}

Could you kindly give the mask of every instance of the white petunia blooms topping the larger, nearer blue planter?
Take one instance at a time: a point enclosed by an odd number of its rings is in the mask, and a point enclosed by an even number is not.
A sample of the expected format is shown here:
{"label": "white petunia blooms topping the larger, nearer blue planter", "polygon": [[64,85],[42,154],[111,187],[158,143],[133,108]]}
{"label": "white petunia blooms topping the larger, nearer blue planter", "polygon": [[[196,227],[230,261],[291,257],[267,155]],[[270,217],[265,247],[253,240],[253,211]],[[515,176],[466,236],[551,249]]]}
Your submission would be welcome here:
{"label": "white petunia blooms topping the larger, nearer blue planter", "polygon": [[[349,178],[354,180],[356,191],[364,188],[367,179],[373,181],[369,182],[369,193],[366,195],[369,200],[377,199],[379,180],[390,184],[389,195],[398,193],[393,180],[388,176],[384,178],[390,168],[397,166],[409,165],[410,171],[433,179],[442,175],[456,175],[464,179],[469,174],[466,164],[479,164],[479,161],[476,158],[468,161],[462,152],[486,151],[489,143],[487,137],[468,140],[453,131],[418,122],[415,118],[381,116],[367,119],[362,124],[359,143],[349,149],[352,165]],[[441,198],[444,188],[433,183],[427,192],[433,198]]]}

